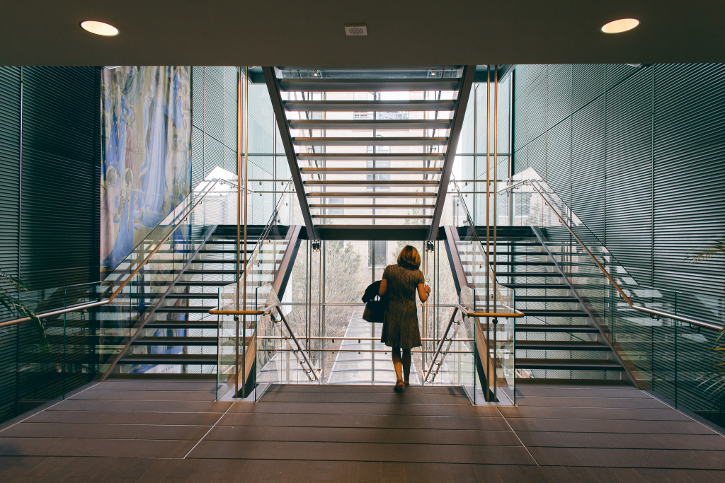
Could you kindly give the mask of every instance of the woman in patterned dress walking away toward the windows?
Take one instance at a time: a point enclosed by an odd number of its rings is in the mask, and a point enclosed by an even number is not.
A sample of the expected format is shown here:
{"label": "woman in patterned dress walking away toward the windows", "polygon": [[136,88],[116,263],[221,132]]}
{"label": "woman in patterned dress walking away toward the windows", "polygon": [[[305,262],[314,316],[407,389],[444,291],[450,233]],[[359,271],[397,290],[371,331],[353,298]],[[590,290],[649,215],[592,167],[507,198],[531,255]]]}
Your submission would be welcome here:
{"label": "woman in patterned dress walking away toward the windows", "polygon": [[[431,287],[426,285],[421,266],[421,255],[410,245],[400,251],[397,265],[388,265],[380,282],[380,293],[388,296],[381,342],[393,348],[395,368],[395,392],[409,386],[410,349],[421,347],[421,331],[418,329],[418,310],[415,307],[415,291],[421,302],[428,300]],[[400,350],[402,349],[402,356]]]}

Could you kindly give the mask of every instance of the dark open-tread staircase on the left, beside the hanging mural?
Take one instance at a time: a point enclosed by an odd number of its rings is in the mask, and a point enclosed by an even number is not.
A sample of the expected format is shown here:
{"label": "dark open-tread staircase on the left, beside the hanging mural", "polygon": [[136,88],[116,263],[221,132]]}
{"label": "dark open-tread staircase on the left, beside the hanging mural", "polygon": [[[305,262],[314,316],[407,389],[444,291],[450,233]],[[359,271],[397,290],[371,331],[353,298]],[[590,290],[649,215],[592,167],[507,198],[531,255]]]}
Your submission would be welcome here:
{"label": "dark open-tread staircase on the left, beside the hanging mural", "polygon": [[[157,251],[144,283],[131,284],[130,306],[139,308],[146,322],[118,358],[115,376],[143,377],[143,374],[216,374],[218,316],[208,312],[218,307],[219,291],[236,282],[236,226],[214,227],[211,235],[189,245],[194,251],[188,264],[175,264],[178,249],[170,246]],[[263,227],[248,230],[247,256],[257,248]],[[265,241],[268,241],[269,238]],[[256,303],[254,288],[273,282],[274,271],[286,249],[286,240],[262,243],[249,266],[247,300]],[[242,247],[242,250],[244,248]],[[170,282],[173,280],[173,282]],[[143,290],[167,290],[156,308],[144,307]],[[128,299],[127,299],[128,300]]]}

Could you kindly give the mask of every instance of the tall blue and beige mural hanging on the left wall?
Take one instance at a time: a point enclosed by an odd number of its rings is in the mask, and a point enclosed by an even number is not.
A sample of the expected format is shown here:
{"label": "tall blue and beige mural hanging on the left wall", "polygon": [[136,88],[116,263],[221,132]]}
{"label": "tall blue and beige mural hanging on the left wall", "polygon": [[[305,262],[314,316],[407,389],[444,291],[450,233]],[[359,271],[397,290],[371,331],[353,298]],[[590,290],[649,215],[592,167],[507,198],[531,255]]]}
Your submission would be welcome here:
{"label": "tall blue and beige mural hanging on the left wall", "polygon": [[117,67],[101,84],[101,270],[110,271],[188,196],[191,67]]}

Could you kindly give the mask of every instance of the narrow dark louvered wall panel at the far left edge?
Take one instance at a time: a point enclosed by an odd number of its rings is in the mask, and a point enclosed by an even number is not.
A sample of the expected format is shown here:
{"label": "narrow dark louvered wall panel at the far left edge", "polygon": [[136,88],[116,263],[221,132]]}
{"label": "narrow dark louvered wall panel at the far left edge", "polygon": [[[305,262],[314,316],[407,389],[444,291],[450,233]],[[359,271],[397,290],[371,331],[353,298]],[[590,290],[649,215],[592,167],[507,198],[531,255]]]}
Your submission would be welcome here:
{"label": "narrow dark louvered wall panel at the far left edge", "polygon": [[[20,201],[20,68],[0,67],[0,271],[17,277]],[[0,308],[0,320],[11,317]],[[0,329],[0,421],[14,416],[17,327]]]}

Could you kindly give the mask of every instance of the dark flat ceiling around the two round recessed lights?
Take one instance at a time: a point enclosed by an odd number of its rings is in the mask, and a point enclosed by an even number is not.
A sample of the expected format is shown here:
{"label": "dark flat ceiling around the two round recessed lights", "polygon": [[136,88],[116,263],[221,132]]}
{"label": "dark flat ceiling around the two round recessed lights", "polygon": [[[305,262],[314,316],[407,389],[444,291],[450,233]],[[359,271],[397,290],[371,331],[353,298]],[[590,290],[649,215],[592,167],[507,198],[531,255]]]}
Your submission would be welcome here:
{"label": "dark flat ceiling around the two round recessed lights", "polygon": [[[0,12],[1,65],[725,61],[724,0],[6,0]],[[641,24],[600,32],[622,17]],[[368,36],[344,35],[357,22]]]}

